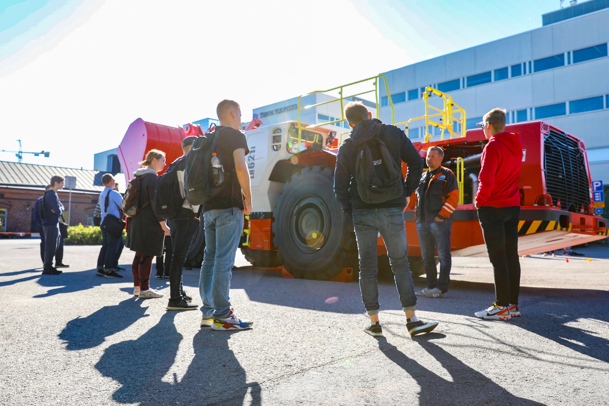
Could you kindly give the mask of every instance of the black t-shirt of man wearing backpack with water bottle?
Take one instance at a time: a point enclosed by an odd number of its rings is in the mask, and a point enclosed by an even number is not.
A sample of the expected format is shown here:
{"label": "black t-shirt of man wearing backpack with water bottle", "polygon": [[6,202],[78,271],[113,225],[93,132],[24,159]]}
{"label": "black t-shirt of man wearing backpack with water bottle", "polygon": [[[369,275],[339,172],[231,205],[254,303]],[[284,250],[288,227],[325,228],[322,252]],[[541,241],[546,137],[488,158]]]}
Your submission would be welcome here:
{"label": "black t-shirt of man wearing backpack with water bottle", "polygon": [[234,172],[233,152],[236,149],[244,148],[245,155],[250,153],[250,149],[247,148],[245,134],[239,130],[224,126],[217,126],[216,134],[218,137],[216,142],[216,154],[220,159],[220,165],[222,165],[222,168],[224,169],[224,189],[216,199],[203,205],[203,212],[231,207],[243,210],[243,194],[241,185],[239,185],[239,179],[237,179],[237,174]]}

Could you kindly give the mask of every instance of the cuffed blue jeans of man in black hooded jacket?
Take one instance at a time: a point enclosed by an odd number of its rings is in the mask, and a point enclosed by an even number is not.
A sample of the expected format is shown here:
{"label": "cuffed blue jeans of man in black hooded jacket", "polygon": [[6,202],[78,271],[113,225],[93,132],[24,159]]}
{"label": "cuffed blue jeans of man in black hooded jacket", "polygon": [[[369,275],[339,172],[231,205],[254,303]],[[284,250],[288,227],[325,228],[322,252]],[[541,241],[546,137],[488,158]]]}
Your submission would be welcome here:
{"label": "cuffed blue jeans of man in black hooded jacket", "polygon": [[387,256],[398,288],[404,312],[417,310],[417,296],[408,264],[408,243],[404,213],[397,208],[366,208],[353,210],[353,226],[359,251],[359,288],[368,315],[379,312],[378,252],[379,233],[385,241]]}

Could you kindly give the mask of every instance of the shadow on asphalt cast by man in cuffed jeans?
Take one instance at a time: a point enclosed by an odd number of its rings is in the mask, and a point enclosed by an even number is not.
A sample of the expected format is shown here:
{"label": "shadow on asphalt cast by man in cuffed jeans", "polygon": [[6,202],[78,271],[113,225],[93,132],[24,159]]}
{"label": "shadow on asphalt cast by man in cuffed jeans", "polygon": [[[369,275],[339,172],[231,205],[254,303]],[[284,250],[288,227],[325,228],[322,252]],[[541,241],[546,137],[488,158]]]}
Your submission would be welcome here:
{"label": "shadow on asphalt cast by man in cuffed jeans", "polygon": [[470,368],[459,358],[445,351],[442,347],[434,344],[431,340],[446,337],[442,333],[428,333],[415,336],[416,341],[424,351],[429,352],[446,371],[450,374],[452,382],[446,380],[417,361],[410,359],[396,346],[389,343],[387,338],[378,337],[379,350],[395,365],[404,369],[407,374],[417,380],[421,388],[419,392],[420,405],[454,404],[454,405],[482,405],[496,404],[501,399],[501,404],[507,405],[541,405],[540,403],[514,396],[509,391],[498,385],[493,377]]}

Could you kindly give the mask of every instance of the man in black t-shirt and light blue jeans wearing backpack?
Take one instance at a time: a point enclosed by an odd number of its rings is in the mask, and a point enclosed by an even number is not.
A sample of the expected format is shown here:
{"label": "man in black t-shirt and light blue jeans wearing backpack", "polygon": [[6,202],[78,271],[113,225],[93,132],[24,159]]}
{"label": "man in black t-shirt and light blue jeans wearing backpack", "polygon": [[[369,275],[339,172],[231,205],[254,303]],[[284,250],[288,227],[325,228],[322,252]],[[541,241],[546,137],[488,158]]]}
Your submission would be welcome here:
{"label": "man in black t-shirt and light blue jeans wearing backpack", "polygon": [[241,129],[241,108],[232,100],[218,103],[220,125],[192,144],[185,173],[186,197],[203,204],[205,255],[199,291],[203,305],[201,326],[213,330],[243,330],[252,321],[239,319],[228,298],[231,269],[243,232],[244,213],[252,212],[250,153]]}

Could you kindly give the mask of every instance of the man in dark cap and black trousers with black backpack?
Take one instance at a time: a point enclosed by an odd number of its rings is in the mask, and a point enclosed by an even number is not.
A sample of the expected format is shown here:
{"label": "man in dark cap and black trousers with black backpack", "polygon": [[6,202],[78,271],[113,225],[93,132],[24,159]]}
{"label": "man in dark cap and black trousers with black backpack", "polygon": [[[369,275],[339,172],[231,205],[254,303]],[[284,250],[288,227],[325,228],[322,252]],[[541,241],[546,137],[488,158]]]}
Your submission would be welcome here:
{"label": "man in dark cap and black trousers with black backpack", "polygon": [[[182,140],[183,155],[169,165],[166,173],[158,179],[153,210],[157,216],[167,219],[171,229],[171,246],[173,254],[169,269],[169,304],[167,310],[194,310],[197,305],[192,304],[192,297],[187,296],[182,288],[182,267],[191,243],[194,231],[195,216],[199,212],[199,205],[193,205],[186,198],[184,191],[184,171],[186,169],[186,155],[197,137],[191,135]],[[167,242],[167,241],[166,241]]]}

